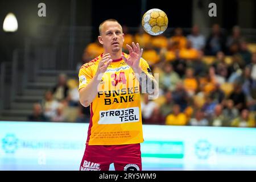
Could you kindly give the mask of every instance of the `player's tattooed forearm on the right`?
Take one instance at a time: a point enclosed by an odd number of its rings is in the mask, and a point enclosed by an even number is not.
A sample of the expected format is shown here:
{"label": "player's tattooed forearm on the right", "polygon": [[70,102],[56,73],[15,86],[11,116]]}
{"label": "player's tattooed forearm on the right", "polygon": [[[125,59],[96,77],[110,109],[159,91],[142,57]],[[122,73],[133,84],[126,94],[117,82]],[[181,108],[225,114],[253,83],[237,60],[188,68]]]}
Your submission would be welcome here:
{"label": "player's tattooed forearm on the right", "polygon": [[141,85],[142,93],[148,93],[152,99],[156,98],[159,93],[158,82],[149,77],[141,68],[134,69],[139,85]]}

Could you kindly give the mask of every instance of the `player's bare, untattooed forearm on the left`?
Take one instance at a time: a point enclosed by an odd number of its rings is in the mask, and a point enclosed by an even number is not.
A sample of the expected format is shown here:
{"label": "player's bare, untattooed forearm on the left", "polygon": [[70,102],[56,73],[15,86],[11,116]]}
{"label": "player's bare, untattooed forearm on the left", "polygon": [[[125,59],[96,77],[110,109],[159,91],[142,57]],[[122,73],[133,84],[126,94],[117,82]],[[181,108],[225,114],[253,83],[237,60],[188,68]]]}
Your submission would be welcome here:
{"label": "player's bare, untattooed forearm on the left", "polygon": [[92,103],[94,98],[97,96],[99,83],[100,79],[98,79],[98,76],[94,76],[89,84],[79,91],[79,101],[82,106],[88,107],[90,103]]}

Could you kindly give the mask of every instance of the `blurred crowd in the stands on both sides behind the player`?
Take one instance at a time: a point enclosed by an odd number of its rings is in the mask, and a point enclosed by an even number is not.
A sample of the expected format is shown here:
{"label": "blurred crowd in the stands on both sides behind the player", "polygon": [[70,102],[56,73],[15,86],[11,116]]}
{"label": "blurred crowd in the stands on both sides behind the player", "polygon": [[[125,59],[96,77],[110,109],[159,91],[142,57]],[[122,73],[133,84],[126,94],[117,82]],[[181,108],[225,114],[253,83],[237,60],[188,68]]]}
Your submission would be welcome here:
{"label": "blurred crowd in the stands on both sides behind the player", "polygon": [[[123,52],[128,53],[126,44],[138,42],[153,74],[159,74],[159,98],[142,95],[143,123],[255,127],[256,52],[249,49],[240,27],[226,34],[214,24],[208,37],[196,25],[187,35],[182,28],[175,28],[171,36],[150,36],[142,28],[130,34],[126,26],[123,32]],[[88,44],[77,69],[102,52],[97,40]],[[50,121],[64,121],[62,115],[72,113],[65,110],[75,107],[73,121],[89,122],[89,109],[79,104],[77,81],[63,84],[61,77],[45,100],[35,104],[34,112]]]}

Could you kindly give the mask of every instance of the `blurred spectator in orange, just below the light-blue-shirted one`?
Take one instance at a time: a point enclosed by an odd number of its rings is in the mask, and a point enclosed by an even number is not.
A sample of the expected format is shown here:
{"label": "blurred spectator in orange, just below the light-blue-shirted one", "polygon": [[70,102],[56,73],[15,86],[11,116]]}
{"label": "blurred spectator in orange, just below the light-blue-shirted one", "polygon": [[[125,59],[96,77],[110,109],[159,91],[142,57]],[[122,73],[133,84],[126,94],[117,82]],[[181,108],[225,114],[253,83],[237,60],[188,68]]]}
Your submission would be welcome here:
{"label": "blurred spectator in orange, just below the light-blue-shirted one", "polygon": [[180,49],[180,58],[185,60],[195,60],[199,56],[197,49],[192,47],[191,40],[187,40],[187,43],[184,48]]}

